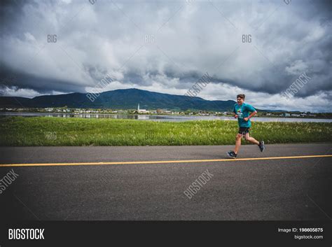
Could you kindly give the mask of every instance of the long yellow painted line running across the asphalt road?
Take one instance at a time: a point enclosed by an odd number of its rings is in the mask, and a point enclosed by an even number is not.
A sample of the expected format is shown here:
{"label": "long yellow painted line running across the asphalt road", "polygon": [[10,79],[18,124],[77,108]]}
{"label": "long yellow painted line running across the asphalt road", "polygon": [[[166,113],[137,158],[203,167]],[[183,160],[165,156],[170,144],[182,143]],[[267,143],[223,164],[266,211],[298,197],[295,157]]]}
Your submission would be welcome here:
{"label": "long yellow painted line running across the asphalt road", "polygon": [[195,162],[221,162],[221,161],[245,161],[245,160],[283,160],[283,159],[303,159],[303,158],[316,158],[316,157],[332,157],[332,155],[305,155],[305,156],[260,157],[260,158],[219,159],[219,160],[155,160],[155,161],[129,161],[129,162],[0,164],[0,167],[85,166],[85,165],[102,165],[102,164],[165,164],[165,163],[195,163]]}

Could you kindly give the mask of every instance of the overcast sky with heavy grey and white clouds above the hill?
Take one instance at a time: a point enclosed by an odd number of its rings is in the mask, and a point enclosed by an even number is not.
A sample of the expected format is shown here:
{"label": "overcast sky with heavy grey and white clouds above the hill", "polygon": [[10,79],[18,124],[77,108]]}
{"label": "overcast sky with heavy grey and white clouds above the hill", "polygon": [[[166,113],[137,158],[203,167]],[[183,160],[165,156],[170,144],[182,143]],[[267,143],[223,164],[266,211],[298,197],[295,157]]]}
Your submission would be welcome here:
{"label": "overcast sky with heavy grey and white clouds above the hill", "polygon": [[185,94],[207,72],[203,99],[331,112],[331,1],[90,1],[1,1],[0,95],[90,92],[106,74],[104,91]]}

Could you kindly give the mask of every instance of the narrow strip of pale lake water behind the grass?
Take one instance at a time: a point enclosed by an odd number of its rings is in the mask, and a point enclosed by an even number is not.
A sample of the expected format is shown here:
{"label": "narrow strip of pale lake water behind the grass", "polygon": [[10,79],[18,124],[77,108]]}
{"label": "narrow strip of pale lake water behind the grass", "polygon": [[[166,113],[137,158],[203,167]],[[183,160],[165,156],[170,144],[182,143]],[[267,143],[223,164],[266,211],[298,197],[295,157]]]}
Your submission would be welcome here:
{"label": "narrow strip of pale lake water behind the grass", "polygon": [[[0,112],[0,117],[22,116],[22,117],[53,117],[53,118],[115,118],[132,120],[151,120],[163,122],[183,122],[191,120],[232,120],[231,117],[217,116],[193,116],[193,115],[113,115],[113,114],[74,114],[74,113],[9,113]],[[254,118],[257,122],[332,122],[332,119],[319,118]]]}

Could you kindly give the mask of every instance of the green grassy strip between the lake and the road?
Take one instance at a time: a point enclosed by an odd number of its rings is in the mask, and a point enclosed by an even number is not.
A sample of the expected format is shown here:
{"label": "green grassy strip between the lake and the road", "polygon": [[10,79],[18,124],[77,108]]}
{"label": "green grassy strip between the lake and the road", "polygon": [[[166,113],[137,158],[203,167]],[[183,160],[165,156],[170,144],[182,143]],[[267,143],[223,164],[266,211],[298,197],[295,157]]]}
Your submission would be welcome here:
{"label": "green grassy strip between the lake and the road", "polygon": [[[0,146],[226,145],[237,134],[237,122],[223,120],[9,117],[0,126]],[[332,142],[332,123],[253,122],[251,135],[265,143]]]}

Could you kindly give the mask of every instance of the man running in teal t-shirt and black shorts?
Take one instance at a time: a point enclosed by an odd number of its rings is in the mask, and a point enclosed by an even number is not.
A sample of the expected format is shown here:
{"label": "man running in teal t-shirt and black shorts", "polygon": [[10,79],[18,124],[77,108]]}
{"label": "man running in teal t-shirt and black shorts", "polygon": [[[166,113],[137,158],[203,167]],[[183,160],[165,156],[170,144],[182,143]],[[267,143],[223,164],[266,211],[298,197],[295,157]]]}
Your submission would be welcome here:
{"label": "man running in teal t-shirt and black shorts", "polygon": [[249,130],[251,127],[250,118],[254,117],[254,115],[257,114],[257,111],[251,105],[244,103],[245,97],[246,96],[244,94],[238,94],[237,104],[234,105],[233,109],[234,117],[237,118],[239,123],[239,132],[236,135],[234,151],[227,152],[227,155],[234,159],[237,157],[237,152],[240,149],[242,136],[244,136],[246,141],[250,141],[251,143],[258,145],[261,152],[265,150],[264,141],[257,141],[253,137],[249,136]]}

